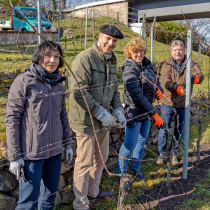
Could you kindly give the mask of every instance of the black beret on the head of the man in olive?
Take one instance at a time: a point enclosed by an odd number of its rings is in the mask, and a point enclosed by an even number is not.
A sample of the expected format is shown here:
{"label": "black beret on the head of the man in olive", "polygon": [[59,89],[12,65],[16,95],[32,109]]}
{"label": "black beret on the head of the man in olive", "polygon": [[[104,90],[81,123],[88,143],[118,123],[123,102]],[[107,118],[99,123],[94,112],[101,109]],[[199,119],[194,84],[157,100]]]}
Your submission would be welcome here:
{"label": "black beret on the head of the man in olive", "polygon": [[113,36],[117,39],[123,39],[124,38],[122,32],[114,25],[108,25],[108,24],[102,25],[99,28],[99,31],[101,33],[107,34],[109,36]]}

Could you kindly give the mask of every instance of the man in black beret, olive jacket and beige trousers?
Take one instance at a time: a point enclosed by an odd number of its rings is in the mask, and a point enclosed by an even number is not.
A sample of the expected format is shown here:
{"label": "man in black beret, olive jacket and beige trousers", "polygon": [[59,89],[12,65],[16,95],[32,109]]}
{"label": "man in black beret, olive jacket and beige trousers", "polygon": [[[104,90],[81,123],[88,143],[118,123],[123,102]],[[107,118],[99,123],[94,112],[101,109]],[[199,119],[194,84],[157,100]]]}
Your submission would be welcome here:
{"label": "man in black beret, olive jacket and beige trousers", "polygon": [[126,125],[118,92],[116,57],[112,52],[117,40],[123,39],[123,34],[113,25],[102,25],[99,31],[98,42],[78,54],[71,69],[93,117],[103,160],[85,100],[73,75],[69,77],[69,117],[77,139],[73,206],[80,210],[89,209],[89,201],[95,198],[112,196],[112,191],[99,191],[103,161],[106,163],[109,155],[109,129]]}

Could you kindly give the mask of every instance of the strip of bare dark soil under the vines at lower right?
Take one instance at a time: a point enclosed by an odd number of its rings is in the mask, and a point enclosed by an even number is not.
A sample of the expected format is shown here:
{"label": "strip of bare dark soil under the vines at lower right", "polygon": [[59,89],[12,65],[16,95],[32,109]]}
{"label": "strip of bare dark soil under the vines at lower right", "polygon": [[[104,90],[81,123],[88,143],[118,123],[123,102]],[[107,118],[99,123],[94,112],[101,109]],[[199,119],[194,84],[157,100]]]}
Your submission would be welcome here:
{"label": "strip of bare dark soil under the vines at lower right", "polygon": [[131,209],[181,209],[187,198],[195,197],[194,187],[204,179],[210,169],[210,143],[201,149],[200,165],[196,166],[197,158],[189,154],[188,177],[183,179],[183,163],[178,167],[178,173],[171,176],[171,193],[166,188],[166,175],[161,185],[145,191],[138,198],[139,204],[132,205]]}

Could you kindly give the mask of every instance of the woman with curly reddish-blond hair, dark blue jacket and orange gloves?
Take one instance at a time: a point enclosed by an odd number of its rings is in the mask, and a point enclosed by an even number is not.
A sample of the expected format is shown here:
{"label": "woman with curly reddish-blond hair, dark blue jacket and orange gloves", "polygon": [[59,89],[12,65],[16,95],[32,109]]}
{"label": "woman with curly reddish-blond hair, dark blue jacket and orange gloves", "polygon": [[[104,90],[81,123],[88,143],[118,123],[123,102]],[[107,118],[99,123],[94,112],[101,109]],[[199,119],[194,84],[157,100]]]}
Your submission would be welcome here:
{"label": "woman with curly reddish-blond hair, dark blue jacket and orange gloves", "polygon": [[132,156],[132,171],[145,179],[140,166],[151,121],[160,127],[163,121],[153,107],[155,97],[162,98],[163,89],[152,63],[145,57],[147,48],[141,39],[132,39],[126,46],[122,79],[124,83],[123,102],[126,108],[127,126],[125,139],[119,152],[118,174],[126,174],[128,159]]}

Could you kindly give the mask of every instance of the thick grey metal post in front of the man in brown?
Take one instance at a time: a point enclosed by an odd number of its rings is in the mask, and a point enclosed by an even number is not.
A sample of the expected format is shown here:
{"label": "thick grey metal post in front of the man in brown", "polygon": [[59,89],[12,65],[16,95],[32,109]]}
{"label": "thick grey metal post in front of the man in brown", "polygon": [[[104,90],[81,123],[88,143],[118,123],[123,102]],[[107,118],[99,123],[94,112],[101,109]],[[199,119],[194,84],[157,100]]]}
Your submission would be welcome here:
{"label": "thick grey metal post in front of the man in brown", "polygon": [[188,146],[189,146],[189,130],[190,130],[191,68],[192,68],[192,30],[188,30],[188,33],[187,33],[187,74],[186,74],[187,82],[186,82],[186,93],[185,93],[183,179],[187,179],[187,167],[188,167]]}

